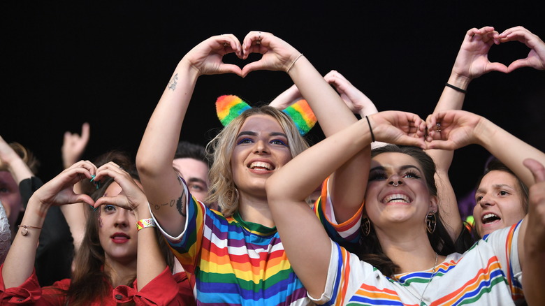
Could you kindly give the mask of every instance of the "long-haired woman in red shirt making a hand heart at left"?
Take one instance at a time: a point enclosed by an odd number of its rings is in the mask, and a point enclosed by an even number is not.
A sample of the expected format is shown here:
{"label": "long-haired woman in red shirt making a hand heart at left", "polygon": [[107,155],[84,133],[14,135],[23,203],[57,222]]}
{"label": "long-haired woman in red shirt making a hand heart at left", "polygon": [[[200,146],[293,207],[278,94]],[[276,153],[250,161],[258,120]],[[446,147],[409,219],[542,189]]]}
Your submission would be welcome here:
{"label": "long-haired woman in red shirt making a hand heart at left", "polygon": [[[159,247],[147,199],[135,181],[136,171],[131,163],[123,162],[126,159],[115,160],[119,164],[109,162],[100,168],[89,161],[75,163],[34,193],[1,267],[2,305],[22,301],[36,305],[193,303],[184,275],[173,275],[168,269],[169,252]],[[83,177],[101,182],[93,198],[73,191]],[[40,288],[33,269],[45,213],[52,205],[73,203],[96,207],[89,213],[73,276]]]}

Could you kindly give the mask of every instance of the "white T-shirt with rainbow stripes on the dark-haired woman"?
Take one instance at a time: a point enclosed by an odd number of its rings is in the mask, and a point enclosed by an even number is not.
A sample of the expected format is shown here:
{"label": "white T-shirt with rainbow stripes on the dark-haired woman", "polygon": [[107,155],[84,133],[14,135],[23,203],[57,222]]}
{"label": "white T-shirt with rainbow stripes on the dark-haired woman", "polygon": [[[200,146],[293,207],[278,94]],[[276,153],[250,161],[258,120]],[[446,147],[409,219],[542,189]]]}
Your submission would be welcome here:
{"label": "white T-shirt with rainbow stripes on the dark-haired woman", "polygon": [[[516,249],[519,224],[491,233],[463,255],[447,256],[435,275],[430,269],[391,279],[334,243],[326,286],[330,300],[321,302],[325,305],[515,305],[515,301],[523,300]],[[420,304],[426,285],[428,289]]]}

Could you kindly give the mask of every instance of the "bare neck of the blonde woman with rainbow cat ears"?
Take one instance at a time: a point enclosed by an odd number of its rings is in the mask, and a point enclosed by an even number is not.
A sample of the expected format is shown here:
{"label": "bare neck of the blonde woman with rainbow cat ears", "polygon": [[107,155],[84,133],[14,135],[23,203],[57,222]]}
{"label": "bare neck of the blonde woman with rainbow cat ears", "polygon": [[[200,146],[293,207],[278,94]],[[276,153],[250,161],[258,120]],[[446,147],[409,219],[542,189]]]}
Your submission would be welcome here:
{"label": "bare neck of the blonde woman with rainbow cat ears", "polygon": [[268,227],[275,226],[266,197],[257,197],[240,192],[239,203],[238,212],[244,221]]}

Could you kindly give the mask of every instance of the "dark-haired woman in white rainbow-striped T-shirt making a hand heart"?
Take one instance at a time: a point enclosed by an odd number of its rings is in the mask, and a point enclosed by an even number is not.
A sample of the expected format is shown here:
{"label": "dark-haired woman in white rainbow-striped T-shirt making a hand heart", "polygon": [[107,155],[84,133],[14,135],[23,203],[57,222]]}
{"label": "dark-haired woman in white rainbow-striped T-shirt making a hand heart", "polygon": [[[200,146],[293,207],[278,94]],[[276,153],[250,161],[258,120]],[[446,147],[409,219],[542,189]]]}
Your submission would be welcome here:
{"label": "dark-haired woman in white rainbow-striped T-shirt making a hand heart", "polygon": [[[433,160],[418,148],[384,147],[373,152],[365,188],[362,248],[357,254],[332,242],[309,212],[305,194],[372,140],[407,144],[388,122],[400,112],[379,112],[314,145],[266,182],[268,201],[290,263],[314,302],[327,305],[514,305],[523,299],[525,249],[539,249],[544,218],[495,231],[465,254],[449,254],[449,235],[438,216]],[[405,116],[405,115],[403,115]],[[483,117],[437,112],[426,124],[414,116],[416,138],[426,149],[470,144],[509,147],[498,157],[518,169],[524,159],[545,154]],[[437,129],[440,122],[441,129]],[[371,129],[372,126],[372,129]],[[424,133],[427,142],[424,143]],[[479,135],[472,138],[470,134]],[[507,150],[506,150],[507,151]],[[315,167],[317,162],[320,167]],[[532,175],[530,171],[521,171]],[[528,228],[532,224],[532,228]],[[525,235],[537,230],[535,235]],[[530,245],[527,245],[530,242]],[[330,252],[324,252],[330,250]],[[535,279],[537,271],[528,271]]]}

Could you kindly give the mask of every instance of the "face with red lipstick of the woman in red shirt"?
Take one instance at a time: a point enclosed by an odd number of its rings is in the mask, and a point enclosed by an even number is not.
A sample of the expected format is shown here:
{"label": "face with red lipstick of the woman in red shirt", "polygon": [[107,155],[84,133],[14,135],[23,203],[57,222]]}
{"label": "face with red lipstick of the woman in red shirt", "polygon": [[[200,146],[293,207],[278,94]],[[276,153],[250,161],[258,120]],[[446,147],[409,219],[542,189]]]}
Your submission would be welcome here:
{"label": "face with red lipstick of the woman in red shirt", "polygon": [[[112,182],[104,196],[117,196],[121,191],[119,184]],[[106,262],[136,262],[138,234],[134,213],[115,205],[101,205],[99,209],[99,239]]]}

